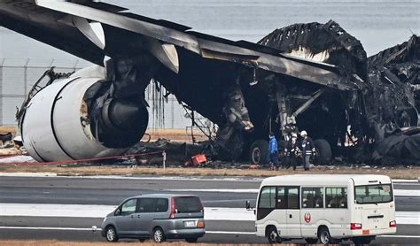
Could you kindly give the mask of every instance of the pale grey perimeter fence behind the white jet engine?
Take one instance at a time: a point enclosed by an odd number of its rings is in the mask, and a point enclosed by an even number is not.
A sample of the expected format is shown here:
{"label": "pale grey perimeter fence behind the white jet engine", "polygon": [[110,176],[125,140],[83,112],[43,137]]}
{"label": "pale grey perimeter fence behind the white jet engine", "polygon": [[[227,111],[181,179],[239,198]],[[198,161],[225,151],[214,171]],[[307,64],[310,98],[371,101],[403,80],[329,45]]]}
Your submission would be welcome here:
{"label": "pale grey perimeter fence behind the white jet engine", "polygon": [[[17,125],[15,115],[29,90],[43,73],[55,66],[56,72],[71,73],[89,64],[83,60],[29,59],[17,60],[0,58],[0,126]],[[150,107],[149,128],[186,129],[191,127],[191,119],[185,117],[183,106],[175,96],[162,97],[154,83],[146,89],[146,100]],[[200,118],[200,116],[198,116]]]}

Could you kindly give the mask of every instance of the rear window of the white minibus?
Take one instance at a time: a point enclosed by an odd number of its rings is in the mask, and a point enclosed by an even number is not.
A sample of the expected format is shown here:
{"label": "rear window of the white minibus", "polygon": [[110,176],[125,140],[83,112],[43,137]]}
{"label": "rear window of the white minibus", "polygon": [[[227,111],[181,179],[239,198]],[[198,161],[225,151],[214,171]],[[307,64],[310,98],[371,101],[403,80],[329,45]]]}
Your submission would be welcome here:
{"label": "rear window of the white minibus", "polygon": [[393,201],[391,184],[361,185],[354,187],[356,204],[380,204]]}

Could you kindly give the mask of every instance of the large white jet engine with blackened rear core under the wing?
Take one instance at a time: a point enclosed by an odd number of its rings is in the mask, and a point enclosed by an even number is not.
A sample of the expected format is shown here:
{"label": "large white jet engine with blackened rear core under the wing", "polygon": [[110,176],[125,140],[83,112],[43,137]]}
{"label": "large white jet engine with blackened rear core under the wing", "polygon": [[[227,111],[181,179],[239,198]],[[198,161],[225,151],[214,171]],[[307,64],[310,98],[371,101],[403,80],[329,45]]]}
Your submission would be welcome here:
{"label": "large white jet engine with blackened rear core under the wing", "polygon": [[[30,100],[20,119],[20,133],[33,158],[42,162],[116,156],[133,145],[134,140],[141,139],[148,123],[144,105],[136,107],[115,99],[108,100],[97,115],[106,123],[106,131],[114,131],[109,138],[120,144],[113,143],[116,147],[109,148],[110,144],[95,135],[98,125],[89,117],[91,112],[83,98],[101,80],[72,76],[43,88]],[[124,120],[127,112],[128,119]],[[130,133],[134,133],[134,138],[124,143]]]}

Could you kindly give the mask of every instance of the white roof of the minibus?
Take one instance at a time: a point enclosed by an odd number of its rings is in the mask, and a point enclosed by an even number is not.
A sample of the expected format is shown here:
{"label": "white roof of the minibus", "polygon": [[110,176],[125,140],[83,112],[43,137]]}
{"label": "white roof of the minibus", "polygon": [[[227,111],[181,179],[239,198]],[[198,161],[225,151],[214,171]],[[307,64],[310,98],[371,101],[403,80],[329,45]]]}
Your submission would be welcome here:
{"label": "white roof of the minibus", "polygon": [[354,181],[354,185],[390,183],[391,178],[385,175],[370,174],[294,174],[270,177],[261,182],[261,186],[267,185],[346,185]]}

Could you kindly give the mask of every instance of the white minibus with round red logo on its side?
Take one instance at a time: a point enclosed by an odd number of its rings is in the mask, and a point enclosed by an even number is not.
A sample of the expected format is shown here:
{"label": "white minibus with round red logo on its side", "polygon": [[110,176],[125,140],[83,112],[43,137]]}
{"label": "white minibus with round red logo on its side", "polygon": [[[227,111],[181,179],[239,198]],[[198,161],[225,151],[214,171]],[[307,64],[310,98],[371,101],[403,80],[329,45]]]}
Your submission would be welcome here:
{"label": "white minibus with round red logo on its side", "polygon": [[271,177],[261,182],[255,214],[256,234],[270,243],[365,244],[397,231],[393,183],[384,175]]}

